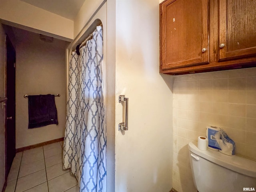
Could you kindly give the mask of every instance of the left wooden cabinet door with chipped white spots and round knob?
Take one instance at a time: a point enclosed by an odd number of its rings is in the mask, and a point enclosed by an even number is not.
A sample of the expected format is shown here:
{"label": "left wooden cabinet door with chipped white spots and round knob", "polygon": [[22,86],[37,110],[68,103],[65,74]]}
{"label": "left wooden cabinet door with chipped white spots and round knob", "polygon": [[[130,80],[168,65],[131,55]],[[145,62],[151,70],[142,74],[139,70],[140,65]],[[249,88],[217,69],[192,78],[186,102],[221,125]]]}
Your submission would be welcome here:
{"label": "left wooden cabinet door with chipped white spots and round knob", "polygon": [[208,0],[160,4],[160,72],[207,63]]}

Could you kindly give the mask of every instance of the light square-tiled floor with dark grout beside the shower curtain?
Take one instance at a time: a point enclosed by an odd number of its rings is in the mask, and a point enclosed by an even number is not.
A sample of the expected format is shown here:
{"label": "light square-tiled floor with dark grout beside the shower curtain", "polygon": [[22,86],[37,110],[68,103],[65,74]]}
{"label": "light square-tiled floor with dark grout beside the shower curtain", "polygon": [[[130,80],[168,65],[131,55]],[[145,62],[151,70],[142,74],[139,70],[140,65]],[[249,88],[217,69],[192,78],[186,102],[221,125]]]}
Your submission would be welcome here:
{"label": "light square-tiled floor with dark grout beside the shower curtain", "polygon": [[78,192],[70,170],[62,169],[62,142],[16,154],[5,192]]}

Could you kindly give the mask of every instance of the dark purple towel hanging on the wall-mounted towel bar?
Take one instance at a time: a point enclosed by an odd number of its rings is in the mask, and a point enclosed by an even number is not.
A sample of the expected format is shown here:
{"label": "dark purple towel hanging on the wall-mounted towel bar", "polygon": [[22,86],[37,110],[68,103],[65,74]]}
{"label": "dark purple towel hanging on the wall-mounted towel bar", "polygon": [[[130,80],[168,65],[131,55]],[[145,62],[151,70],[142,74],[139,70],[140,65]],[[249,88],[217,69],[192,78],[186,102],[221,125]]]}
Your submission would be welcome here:
{"label": "dark purple towel hanging on the wall-mounted towel bar", "polygon": [[54,95],[28,96],[28,128],[58,125]]}

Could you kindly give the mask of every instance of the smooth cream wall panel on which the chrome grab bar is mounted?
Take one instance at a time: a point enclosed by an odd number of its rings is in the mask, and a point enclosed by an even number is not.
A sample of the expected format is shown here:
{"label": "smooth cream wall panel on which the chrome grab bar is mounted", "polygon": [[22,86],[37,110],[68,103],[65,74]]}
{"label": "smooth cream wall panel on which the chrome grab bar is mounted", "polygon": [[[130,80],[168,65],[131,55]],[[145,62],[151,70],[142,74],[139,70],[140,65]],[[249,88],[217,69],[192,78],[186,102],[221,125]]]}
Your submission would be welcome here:
{"label": "smooth cream wall panel on which the chrome grab bar is mounted", "polygon": [[[129,130],[118,131],[129,98]],[[159,74],[159,0],[116,1],[116,192],[172,188],[172,76]]]}

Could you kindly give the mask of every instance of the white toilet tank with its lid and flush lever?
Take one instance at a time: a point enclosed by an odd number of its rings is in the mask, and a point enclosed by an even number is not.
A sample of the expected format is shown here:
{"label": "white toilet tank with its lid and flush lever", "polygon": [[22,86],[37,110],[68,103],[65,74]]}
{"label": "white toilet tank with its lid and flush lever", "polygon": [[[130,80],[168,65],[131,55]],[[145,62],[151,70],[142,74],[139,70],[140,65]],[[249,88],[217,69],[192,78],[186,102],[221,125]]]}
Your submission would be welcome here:
{"label": "white toilet tank with its lid and flush lever", "polygon": [[241,192],[256,190],[256,162],[240,156],[188,144],[190,166],[198,192]]}

